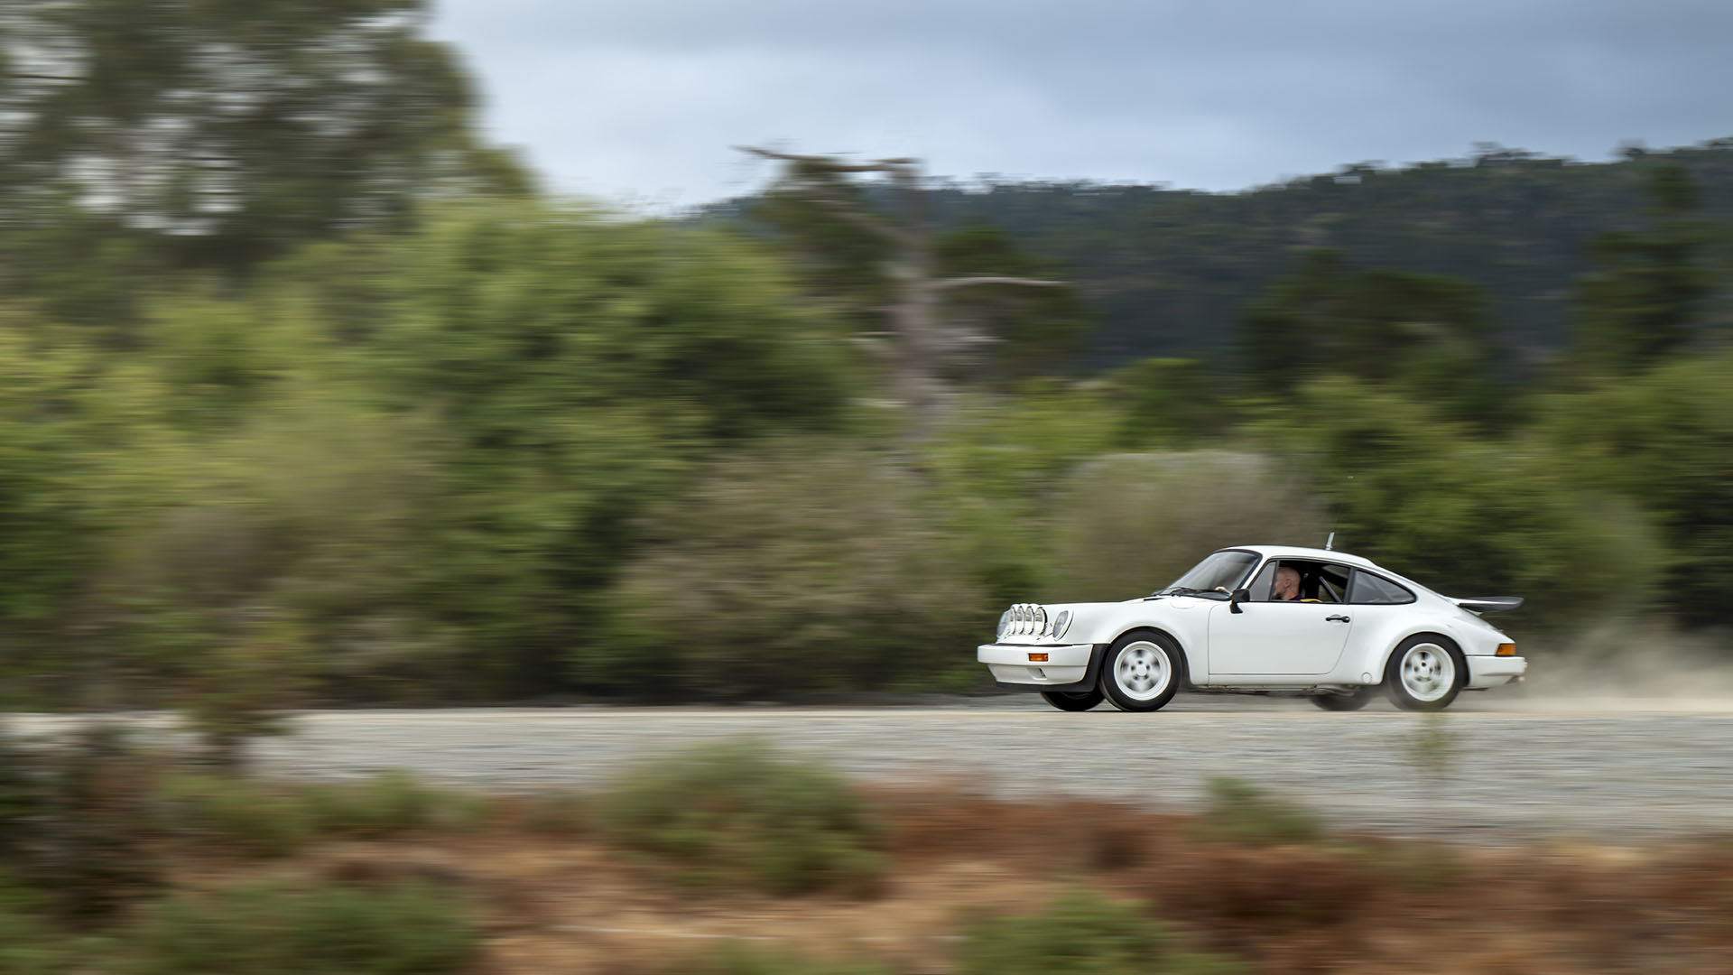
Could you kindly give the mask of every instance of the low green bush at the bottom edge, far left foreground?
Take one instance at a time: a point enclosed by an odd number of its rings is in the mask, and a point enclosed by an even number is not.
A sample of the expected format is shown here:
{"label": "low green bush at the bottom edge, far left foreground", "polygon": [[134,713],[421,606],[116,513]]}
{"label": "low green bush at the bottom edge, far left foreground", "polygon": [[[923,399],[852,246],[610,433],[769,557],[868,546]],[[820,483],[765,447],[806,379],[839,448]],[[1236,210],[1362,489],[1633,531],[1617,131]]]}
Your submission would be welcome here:
{"label": "low green bush at the bottom edge, far left foreground", "polygon": [[137,975],[435,975],[463,970],[478,939],[461,906],[407,885],[180,893],[123,933]]}

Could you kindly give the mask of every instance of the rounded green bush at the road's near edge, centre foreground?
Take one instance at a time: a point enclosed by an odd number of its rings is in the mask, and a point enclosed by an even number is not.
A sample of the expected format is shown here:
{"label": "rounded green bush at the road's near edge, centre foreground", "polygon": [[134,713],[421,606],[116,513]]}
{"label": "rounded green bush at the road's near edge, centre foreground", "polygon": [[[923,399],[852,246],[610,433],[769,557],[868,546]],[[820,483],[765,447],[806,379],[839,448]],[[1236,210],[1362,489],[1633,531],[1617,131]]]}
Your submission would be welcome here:
{"label": "rounded green bush at the road's near edge, centre foreground", "polygon": [[882,873],[872,812],[841,775],[757,741],[678,753],[598,803],[603,836],[693,888],[866,890]]}

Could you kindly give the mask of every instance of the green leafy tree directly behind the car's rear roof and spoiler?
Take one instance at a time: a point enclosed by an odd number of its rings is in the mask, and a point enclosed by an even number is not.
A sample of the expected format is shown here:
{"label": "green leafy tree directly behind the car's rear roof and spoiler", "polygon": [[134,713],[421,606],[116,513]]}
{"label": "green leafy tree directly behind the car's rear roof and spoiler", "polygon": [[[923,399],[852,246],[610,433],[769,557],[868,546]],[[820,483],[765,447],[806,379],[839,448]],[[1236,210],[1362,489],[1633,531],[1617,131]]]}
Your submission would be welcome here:
{"label": "green leafy tree directly behind the car's rear roof and spoiler", "polygon": [[[1475,437],[1352,380],[1305,387],[1263,429],[1310,470],[1336,545],[1449,595],[1511,593],[1511,625],[1641,611],[1664,550],[1629,503],[1586,484],[1539,437]],[[1622,599],[1608,602],[1606,593]]]}

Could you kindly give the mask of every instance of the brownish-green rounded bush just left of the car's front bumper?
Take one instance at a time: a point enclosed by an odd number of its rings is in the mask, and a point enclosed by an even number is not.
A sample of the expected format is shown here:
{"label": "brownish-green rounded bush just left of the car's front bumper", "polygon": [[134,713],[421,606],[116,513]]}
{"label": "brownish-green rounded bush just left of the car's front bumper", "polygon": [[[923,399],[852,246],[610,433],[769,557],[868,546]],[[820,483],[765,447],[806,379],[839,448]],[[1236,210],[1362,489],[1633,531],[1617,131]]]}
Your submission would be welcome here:
{"label": "brownish-green rounded bush just left of the car's front bumper", "polygon": [[646,694],[787,696],[931,682],[995,609],[891,458],[789,441],[721,461],[648,520],[615,590],[612,658],[581,677]]}

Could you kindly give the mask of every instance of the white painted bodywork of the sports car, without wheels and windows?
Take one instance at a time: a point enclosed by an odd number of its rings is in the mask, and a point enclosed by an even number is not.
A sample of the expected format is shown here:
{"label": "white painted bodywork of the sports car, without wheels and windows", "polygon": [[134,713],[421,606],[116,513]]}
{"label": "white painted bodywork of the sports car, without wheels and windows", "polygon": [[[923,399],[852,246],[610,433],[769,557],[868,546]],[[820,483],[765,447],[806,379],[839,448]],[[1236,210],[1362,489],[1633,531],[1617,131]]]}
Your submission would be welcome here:
{"label": "white painted bodywork of the sports car, without wheels and windows", "polygon": [[[1178,642],[1187,678],[1199,690],[1352,690],[1383,682],[1395,647],[1419,633],[1447,637],[1468,663],[1466,689],[1487,689],[1523,677],[1523,658],[1494,656],[1513,640],[1456,600],[1371,560],[1345,552],[1270,545],[1237,545],[1256,562],[1244,579],[1270,559],[1308,559],[1364,569],[1414,593],[1405,604],[1353,602],[1241,602],[1232,612],[1225,597],[1166,595],[1125,602],[1055,604],[1040,607],[1052,621],[1069,612],[1064,631],[1007,633],[977,649],[993,678],[1028,689],[1080,682],[1088,654],[1132,630],[1158,630]],[[1225,552],[1225,550],[1223,550]],[[1331,619],[1334,618],[1334,619]],[[1343,619],[1347,618],[1347,619]],[[1045,664],[1029,652],[1048,652]],[[1061,652],[1062,651],[1062,656]],[[1061,663],[1061,659],[1064,663]]]}

